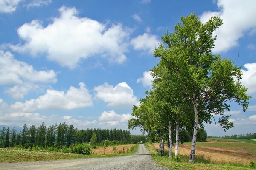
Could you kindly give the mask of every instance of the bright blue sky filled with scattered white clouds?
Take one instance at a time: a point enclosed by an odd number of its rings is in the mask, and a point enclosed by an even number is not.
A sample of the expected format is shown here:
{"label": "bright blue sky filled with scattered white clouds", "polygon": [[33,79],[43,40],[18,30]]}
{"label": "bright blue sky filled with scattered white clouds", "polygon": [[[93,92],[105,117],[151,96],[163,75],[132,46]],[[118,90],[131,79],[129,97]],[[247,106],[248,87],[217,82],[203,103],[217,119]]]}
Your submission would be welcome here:
{"label": "bright blue sky filled with scattered white clouds", "polygon": [[154,48],[195,12],[223,19],[212,52],[241,66],[251,96],[246,112],[236,103],[225,112],[234,128],[205,125],[207,134],[255,133],[255,9],[255,0],[0,0],[0,125],[128,129],[151,88]]}

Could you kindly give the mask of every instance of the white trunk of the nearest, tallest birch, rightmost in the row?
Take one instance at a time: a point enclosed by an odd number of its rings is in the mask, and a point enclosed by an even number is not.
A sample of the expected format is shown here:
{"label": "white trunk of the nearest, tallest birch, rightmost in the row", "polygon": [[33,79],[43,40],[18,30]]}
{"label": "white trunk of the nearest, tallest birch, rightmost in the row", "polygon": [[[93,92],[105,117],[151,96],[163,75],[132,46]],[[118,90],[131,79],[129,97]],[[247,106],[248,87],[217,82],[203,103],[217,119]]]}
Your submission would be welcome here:
{"label": "white trunk of the nearest, tallest birch, rightmost in the row", "polygon": [[[195,94],[193,94],[193,97],[195,99]],[[196,145],[196,138],[197,138],[197,133],[198,133],[198,102],[194,101],[194,112],[195,112],[195,124],[194,124],[194,134],[193,134],[193,140],[192,140],[192,147],[191,147],[191,152],[190,152],[190,157],[189,157],[189,162],[194,163],[195,162],[195,145]]]}

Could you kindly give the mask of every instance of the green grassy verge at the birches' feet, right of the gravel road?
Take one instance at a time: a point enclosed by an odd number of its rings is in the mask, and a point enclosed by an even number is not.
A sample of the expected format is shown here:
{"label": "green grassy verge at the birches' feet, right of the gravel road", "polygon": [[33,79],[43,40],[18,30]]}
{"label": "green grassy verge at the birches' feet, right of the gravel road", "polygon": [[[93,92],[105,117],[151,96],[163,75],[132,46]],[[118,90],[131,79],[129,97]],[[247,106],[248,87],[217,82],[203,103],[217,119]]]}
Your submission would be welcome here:
{"label": "green grassy verge at the birches' feet, right of the gravel road", "polygon": [[[241,164],[219,164],[216,162],[211,162],[208,158],[204,156],[196,156],[195,163],[189,163],[189,157],[180,155],[180,160],[177,162],[175,159],[168,157],[168,151],[166,150],[164,156],[159,156],[156,152],[154,145],[145,144],[145,147],[151,153],[153,159],[171,170],[252,170],[253,168],[244,166]],[[174,155],[174,153],[173,153]]]}

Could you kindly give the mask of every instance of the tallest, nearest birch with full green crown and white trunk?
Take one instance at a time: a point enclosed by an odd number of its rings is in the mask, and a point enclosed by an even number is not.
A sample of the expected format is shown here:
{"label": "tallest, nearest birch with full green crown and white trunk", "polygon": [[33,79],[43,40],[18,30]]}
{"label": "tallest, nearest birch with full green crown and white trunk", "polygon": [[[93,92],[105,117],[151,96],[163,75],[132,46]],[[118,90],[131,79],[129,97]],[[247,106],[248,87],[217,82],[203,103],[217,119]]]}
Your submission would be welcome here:
{"label": "tallest, nearest birch with full green crown and white trunk", "polygon": [[172,83],[180,85],[194,108],[190,162],[195,159],[199,121],[211,123],[219,115],[218,125],[226,131],[233,127],[230,116],[224,115],[230,102],[241,104],[244,111],[248,107],[250,96],[241,85],[240,67],[211,52],[217,38],[212,33],[221,25],[222,20],[216,16],[207,23],[201,23],[195,14],[181,17],[175,32],[162,37],[166,46],[160,44],[154,51],[154,57],[160,57],[160,62],[175,76]]}

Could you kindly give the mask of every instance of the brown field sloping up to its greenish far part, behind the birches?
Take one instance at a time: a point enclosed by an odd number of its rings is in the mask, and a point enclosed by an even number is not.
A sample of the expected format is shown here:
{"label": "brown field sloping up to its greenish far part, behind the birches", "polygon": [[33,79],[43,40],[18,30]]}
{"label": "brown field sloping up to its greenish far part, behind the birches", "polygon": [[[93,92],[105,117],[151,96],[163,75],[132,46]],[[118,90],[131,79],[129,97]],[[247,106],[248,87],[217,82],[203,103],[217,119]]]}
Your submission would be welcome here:
{"label": "brown field sloping up to its greenish far part, behind the birches", "polygon": [[[222,144],[212,139],[208,139],[207,142],[197,142],[195,154],[203,155],[206,159],[218,163],[249,164],[251,160],[256,161],[256,153],[250,152],[255,150],[255,147],[244,145],[239,147],[237,142],[224,142],[227,147]],[[154,144],[154,147],[159,149],[159,143]],[[165,149],[169,150],[167,145]],[[190,150],[191,143],[179,144],[179,154],[189,156]],[[175,146],[172,147],[172,152],[175,152]]]}

